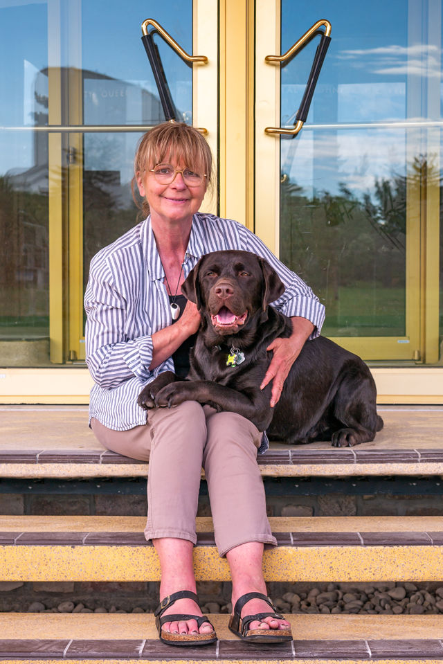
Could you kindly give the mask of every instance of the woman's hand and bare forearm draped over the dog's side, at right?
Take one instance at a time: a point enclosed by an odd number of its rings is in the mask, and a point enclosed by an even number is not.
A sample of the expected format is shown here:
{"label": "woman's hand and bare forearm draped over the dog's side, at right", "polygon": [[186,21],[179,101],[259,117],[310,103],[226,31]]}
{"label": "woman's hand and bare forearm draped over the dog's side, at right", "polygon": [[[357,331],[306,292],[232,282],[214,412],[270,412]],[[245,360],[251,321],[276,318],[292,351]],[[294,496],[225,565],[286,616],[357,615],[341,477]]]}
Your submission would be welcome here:
{"label": "woman's hand and bare forearm draped over the dog's side, at right", "polygon": [[260,385],[260,390],[272,380],[271,408],[280,399],[284,381],[287,379],[291,366],[300,355],[305,341],[314,331],[314,325],[307,318],[293,316],[291,321],[293,326],[291,337],[287,339],[278,337],[266,348],[266,350],[272,350],[273,356]]}

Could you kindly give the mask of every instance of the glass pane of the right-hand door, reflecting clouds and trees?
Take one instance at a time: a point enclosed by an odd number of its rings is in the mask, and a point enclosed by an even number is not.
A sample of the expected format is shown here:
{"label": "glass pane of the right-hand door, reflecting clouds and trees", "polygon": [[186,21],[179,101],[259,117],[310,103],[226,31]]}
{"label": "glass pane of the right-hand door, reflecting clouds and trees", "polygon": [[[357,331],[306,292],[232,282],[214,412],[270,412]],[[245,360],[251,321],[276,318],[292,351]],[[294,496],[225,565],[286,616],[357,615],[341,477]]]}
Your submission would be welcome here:
{"label": "glass pane of the right-hand door, reflecting clouds and trees", "polygon": [[[307,123],[281,141],[280,187],[280,256],[324,301],[329,337],[404,337],[410,317],[419,320],[408,312],[406,245],[419,233],[430,159],[417,125],[436,119],[428,86],[440,83],[429,6],[339,0],[331,12],[325,0],[282,0],[282,53],[316,20],[332,22]],[[283,125],[294,121],[317,44],[282,68]]]}

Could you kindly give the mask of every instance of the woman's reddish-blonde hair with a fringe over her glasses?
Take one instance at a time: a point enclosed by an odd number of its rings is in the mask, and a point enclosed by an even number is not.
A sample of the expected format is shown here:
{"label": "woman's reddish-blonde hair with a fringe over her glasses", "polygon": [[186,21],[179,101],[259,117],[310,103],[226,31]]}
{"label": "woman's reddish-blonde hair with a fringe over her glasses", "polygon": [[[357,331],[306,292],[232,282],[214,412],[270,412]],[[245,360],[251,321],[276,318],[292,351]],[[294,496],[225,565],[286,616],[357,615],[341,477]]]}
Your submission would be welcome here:
{"label": "woman's reddish-blonde hair with a fringe over her glasses", "polygon": [[183,163],[196,172],[205,173],[208,188],[213,189],[213,156],[204,136],[186,123],[161,123],[143,134],[138,141],[134,159],[132,197],[143,214],[149,214],[149,204],[146,199],[136,195],[138,174],[154,168],[157,163],[170,163],[172,160]]}

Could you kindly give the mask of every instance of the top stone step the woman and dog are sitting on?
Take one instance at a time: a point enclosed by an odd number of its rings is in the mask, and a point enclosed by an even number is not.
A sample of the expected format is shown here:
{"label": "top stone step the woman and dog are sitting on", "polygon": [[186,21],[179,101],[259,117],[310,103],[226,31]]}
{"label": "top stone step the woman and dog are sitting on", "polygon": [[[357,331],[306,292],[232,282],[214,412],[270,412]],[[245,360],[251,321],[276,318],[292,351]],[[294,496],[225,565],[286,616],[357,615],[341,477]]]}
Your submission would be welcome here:
{"label": "top stone step the woman and dog are sitting on", "polygon": [[[383,406],[373,442],[336,449],[330,442],[271,442],[258,458],[263,476],[443,475],[442,406]],[[0,406],[0,477],[145,477],[148,464],[100,446],[86,406]]]}

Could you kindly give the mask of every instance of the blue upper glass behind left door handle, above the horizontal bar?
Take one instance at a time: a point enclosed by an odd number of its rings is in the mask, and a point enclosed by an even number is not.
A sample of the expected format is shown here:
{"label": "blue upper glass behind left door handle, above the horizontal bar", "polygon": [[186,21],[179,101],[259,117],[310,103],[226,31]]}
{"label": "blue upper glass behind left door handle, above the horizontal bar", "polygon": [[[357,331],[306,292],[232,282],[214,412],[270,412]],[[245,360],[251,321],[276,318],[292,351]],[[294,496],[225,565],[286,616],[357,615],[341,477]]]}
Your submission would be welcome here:
{"label": "blue upper glass behind left door handle, above the horizontal bar", "polygon": [[[153,18],[187,52],[192,53],[192,0],[125,5],[84,2],[82,68],[84,123],[152,125],[165,116],[154,75],[141,42],[141,24]],[[100,26],[100,29],[97,29]],[[180,120],[192,123],[192,69],[156,35],[161,62]],[[123,47],[124,44],[124,47]]]}

